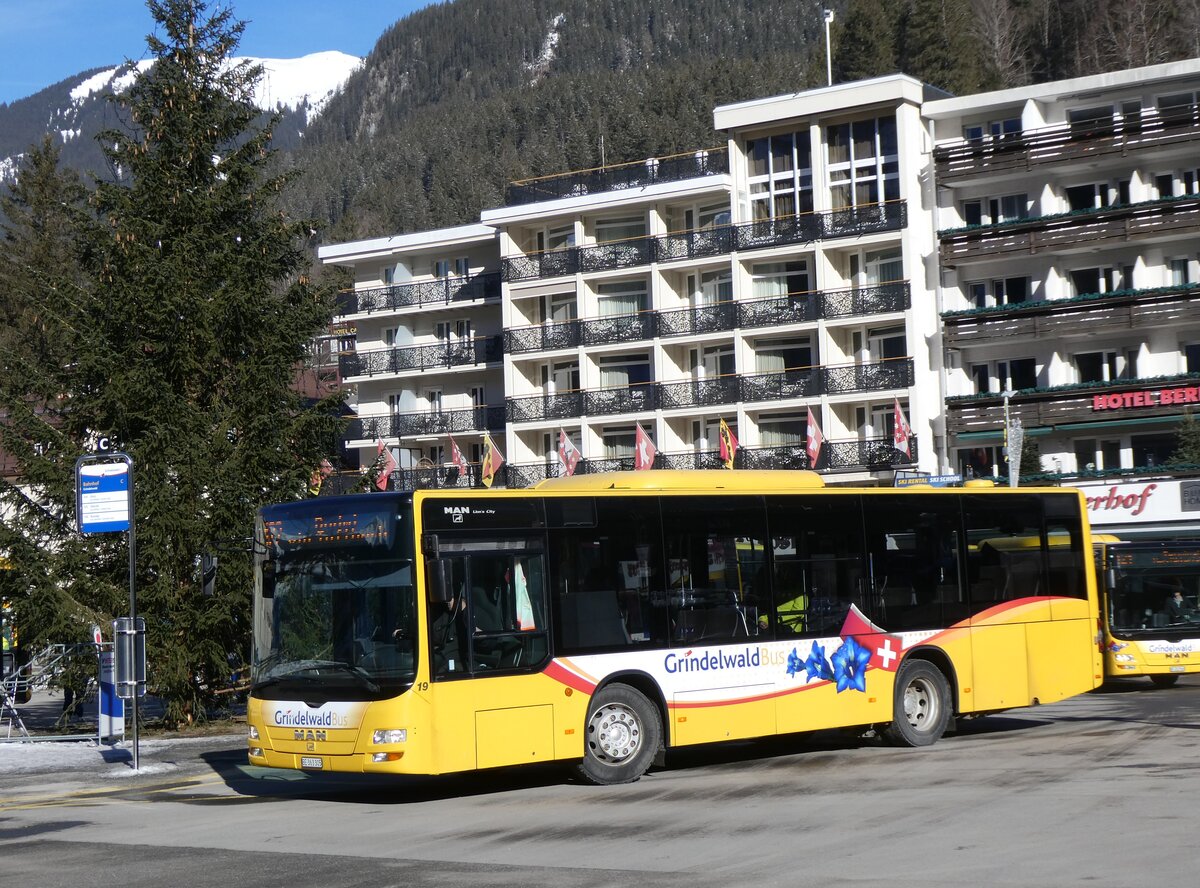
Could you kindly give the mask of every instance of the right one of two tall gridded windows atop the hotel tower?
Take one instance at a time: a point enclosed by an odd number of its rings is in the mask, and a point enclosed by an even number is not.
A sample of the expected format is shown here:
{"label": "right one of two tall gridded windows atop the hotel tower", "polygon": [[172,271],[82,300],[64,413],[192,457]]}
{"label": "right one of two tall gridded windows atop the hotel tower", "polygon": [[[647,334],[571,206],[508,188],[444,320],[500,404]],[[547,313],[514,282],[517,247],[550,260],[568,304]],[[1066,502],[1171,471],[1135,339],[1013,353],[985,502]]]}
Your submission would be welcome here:
{"label": "right one of two tall gridded windows atop the hotel tower", "polygon": [[900,199],[895,118],[826,127],[833,209]]}

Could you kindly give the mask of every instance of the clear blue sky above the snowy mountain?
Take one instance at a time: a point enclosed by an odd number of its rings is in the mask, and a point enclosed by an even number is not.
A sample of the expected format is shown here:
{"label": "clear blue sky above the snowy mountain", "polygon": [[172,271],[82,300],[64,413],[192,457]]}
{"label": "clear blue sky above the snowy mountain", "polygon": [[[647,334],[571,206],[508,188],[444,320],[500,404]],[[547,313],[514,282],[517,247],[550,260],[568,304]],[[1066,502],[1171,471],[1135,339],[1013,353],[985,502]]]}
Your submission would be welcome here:
{"label": "clear blue sky above the snowy mountain", "polygon": [[[294,59],[324,49],[366,55],[398,19],[431,0],[209,0],[245,20],[239,53]],[[0,0],[0,102],[88,68],[146,55],[145,0]]]}

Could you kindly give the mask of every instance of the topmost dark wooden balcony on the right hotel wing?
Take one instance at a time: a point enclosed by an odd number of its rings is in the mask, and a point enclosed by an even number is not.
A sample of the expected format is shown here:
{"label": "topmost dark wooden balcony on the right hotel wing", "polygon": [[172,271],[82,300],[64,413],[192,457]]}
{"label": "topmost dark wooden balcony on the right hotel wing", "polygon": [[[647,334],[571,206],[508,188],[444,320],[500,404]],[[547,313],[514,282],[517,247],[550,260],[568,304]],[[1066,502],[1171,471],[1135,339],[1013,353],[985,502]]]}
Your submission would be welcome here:
{"label": "topmost dark wooden balcony on the right hotel wing", "polygon": [[1006,173],[1027,173],[1048,164],[1088,162],[1105,156],[1126,157],[1200,140],[1200,108],[1147,109],[1121,121],[1058,125],[1024,133],[1007,133],[934,149],[937,181],[950,185],[964,179]]}

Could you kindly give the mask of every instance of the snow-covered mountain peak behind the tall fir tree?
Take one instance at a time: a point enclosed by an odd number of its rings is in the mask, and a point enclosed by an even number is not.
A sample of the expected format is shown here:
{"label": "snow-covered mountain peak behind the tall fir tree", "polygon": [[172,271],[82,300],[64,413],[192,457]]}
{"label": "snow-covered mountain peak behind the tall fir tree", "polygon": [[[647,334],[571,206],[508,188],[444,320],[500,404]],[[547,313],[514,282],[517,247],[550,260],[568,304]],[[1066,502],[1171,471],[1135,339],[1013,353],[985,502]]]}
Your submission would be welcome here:
{"label": "snow-covered mountain peak behind the tall fir tree", "polygon": [[[263,110],[282,115],[275,128],[280,148],[294,146],[359,67],[362,59],[346,53],[313,53],[299,59],[236,58],[263,67],[256,89]],[[0,104],[0,181],[11,180],[20,155],[49,134],[62,146],[62,162],[79,170],[98,170],[103,156],[95,144],[101,130],[119,126],[118,110],[106,96],[130,88],[154,61],[92,68],[12,104]]]}

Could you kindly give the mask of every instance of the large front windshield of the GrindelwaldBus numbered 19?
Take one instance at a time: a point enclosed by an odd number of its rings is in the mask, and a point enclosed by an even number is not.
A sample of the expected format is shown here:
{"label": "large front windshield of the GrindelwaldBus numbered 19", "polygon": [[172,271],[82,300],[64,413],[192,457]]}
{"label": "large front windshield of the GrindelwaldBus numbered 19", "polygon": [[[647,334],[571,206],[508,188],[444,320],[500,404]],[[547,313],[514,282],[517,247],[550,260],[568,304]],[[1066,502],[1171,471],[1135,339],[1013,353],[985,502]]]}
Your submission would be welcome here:
{"label": "large front windshield of the GrindelwaldBus numbered 19", "polygon": [[254,692],[380,700],[413,683],[410,509],[344,497],[265,509],[256,527]]}

